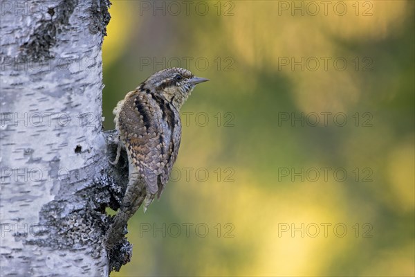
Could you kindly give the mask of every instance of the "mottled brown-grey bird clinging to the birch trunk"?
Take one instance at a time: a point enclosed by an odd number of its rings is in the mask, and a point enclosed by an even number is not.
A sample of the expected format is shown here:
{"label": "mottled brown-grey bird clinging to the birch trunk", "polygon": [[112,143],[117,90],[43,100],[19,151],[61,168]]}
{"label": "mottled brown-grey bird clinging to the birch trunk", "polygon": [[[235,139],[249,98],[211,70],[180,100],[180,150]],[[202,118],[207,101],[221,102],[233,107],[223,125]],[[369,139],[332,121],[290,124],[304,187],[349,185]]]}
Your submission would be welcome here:
{"label": "mottled brown-grey bird clinging to the birch trunk", "polygon": [[124,226],[144,203],[144,211],[165,188],[181,143],[179,111],[192,90],[209,79],[173,67],[151,75],[130,91],[113,109],[118,148],[127,151],[129,182],[118,213],[107,232],[106,246],[112,249],[124,236]]}

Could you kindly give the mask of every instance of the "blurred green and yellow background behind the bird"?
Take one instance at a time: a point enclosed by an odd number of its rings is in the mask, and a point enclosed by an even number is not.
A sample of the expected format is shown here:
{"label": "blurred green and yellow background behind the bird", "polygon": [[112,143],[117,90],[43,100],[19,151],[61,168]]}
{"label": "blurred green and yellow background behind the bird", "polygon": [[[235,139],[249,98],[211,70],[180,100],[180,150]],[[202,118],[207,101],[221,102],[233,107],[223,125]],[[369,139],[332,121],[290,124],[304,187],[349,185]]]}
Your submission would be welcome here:
{"label": "blurred green and yellow background behind the bird", "polygon": [[111,276],[414,276],[414,1],[112,3],[106,129],[155,71],[210,82]]}

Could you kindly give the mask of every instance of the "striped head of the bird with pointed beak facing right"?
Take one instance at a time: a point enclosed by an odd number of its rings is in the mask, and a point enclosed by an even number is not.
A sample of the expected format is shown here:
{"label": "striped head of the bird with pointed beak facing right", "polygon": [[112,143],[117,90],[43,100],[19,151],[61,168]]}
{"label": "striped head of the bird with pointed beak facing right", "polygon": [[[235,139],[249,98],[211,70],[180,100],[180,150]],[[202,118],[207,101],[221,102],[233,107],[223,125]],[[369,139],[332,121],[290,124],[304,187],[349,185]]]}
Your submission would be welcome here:
{"label": "striped head of the bird with pointed beak facing right", "polygon": [[177,110],[180,110],[196,84],[208,80],[196,77],[187,69],[173,67],[154,73],[142,82],[142,87],[149,89],[149,91],[155,91],[171,102]]}

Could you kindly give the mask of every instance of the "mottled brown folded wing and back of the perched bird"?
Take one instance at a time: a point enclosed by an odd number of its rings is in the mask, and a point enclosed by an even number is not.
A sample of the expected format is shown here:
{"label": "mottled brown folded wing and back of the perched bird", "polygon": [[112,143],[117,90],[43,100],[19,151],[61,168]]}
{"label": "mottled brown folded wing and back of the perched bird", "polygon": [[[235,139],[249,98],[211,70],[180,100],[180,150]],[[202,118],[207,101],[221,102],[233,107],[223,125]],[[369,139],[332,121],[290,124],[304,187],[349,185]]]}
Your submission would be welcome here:
{"label": "mottled brown folded wing and back of the perched bird", "polygon": [[[169,159],[172,129],[163,119],[160,105],[146,91],[131,91],[120,106],[116,124],[129,156],[151,194],[157,193],[158,175]],[[131,172],[130,172],[131,174]]]}

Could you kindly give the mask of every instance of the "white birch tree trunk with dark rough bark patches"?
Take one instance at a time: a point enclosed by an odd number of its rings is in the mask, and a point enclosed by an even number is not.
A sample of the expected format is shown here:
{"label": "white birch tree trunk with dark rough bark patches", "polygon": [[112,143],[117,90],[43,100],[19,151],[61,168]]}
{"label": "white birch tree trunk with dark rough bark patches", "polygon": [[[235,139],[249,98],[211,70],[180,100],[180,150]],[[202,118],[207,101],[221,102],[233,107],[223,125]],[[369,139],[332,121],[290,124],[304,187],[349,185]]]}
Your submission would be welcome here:
{"label": "white birch tree trunk with dark rough bark patches", "polygon": [[1,1],[1,276],[109,275],[101,118],[109,4]]}

